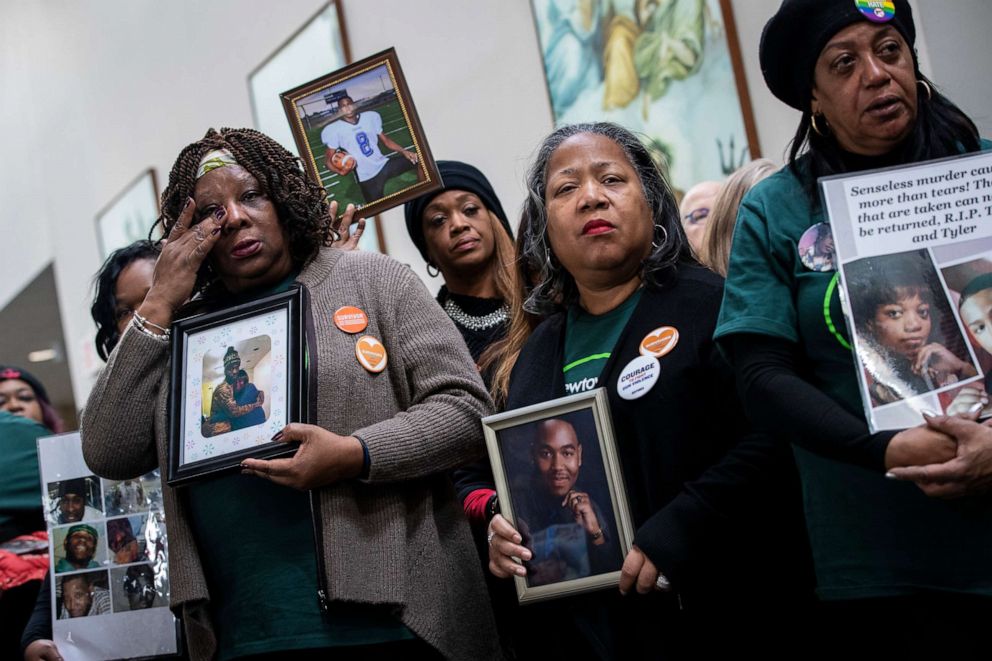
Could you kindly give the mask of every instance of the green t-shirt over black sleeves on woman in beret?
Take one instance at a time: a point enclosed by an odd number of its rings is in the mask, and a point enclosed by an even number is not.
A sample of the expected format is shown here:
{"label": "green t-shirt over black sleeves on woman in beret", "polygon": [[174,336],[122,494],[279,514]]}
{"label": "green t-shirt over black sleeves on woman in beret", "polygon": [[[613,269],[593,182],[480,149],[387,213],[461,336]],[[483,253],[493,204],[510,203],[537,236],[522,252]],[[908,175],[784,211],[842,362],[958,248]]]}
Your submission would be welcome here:
{"label": "green t-shirt over black sleeves on woman in beret", "polygon": [[[836,272],[803,266],[803,232],[823,222],[784,168],[744,198],[716,338],[757,333],[797,343],[804,378],[864,416]],[[815,424],[816,412],[809,420]],[[825,599],[896,596],[921,589],[992,595],[990,500],[928,498],[882,471],[795,448],[816,566]]]}

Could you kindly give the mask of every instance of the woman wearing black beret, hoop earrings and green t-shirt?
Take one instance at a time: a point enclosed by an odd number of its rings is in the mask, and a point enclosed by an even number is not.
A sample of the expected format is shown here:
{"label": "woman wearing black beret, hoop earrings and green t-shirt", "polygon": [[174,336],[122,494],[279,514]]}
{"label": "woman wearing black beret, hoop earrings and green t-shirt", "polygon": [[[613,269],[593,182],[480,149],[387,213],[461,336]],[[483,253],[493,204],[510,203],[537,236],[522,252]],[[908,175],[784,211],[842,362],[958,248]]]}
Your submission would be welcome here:
{"label": "woman wearing black beret, hoop earrings and green t-shirt", "polygon": [[905,0],[785,0],[765,26],[765,81],[802,119],[789,164],[743,200],[716,337],[750,417],[795,447],[827,647],[972,658],[992,610],[989,497],[966,479],[957,500],[885,479],[958,444],[935,423],[869,432],[835,265],[798,248],[829,228],[817,178],[992,147],[920,73],[915,38]]}

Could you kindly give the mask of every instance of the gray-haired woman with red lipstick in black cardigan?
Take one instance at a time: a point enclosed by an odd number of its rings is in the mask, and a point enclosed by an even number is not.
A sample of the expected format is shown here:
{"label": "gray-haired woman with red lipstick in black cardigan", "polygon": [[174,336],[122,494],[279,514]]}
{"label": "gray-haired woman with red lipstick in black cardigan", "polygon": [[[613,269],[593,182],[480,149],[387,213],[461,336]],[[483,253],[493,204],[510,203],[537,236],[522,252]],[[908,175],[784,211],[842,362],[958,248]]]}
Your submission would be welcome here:
{"label": "gray-haired woman with red lipstick in black cardigan", "polygon": [[[524,308],[547,318],[522,343],[506,408],[606,388],[636,528],[619,593],[569,597],[534,619],[583,657],[777,645],[749,617],[801,617],[807,554],[798,512],[786,510],[798,502],[787,449],[748,434],[711,339],[722,281],[692,259],[671,190],[626,129],[558,129],[527,183]],[[649,378],[629,388],[632,375]],[[575,500],[563,508],[578,521]],[[493,574],[526,577],[527,546],[493,517]]]}

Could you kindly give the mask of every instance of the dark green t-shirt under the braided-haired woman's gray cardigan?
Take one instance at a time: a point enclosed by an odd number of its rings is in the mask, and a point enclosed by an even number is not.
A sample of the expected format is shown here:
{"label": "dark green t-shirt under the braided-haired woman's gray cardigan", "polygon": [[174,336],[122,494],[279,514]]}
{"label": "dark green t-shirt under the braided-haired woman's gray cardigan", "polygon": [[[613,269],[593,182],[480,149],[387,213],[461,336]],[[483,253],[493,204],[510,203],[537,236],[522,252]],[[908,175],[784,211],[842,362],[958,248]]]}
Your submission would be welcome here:
{"label": "dark green t-shirt under the braided-haired woman's gray cardigan", "polygon": [[[251,298],[285,291],[296,275]],[[242,475],[198,482],[185,491],[220,661],[414,638],[384,608],[332,604],[321,613],[306,492]]]}

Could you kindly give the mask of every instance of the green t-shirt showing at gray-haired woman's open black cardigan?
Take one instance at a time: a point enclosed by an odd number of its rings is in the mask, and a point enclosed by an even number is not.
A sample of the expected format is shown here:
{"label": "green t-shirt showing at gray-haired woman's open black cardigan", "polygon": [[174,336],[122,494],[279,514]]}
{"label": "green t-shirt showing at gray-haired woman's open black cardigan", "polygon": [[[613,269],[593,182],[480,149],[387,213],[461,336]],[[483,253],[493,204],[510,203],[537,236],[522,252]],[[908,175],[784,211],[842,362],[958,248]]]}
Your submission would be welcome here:
{"label": "green t-shirt showing at gray-haired woman's open black cardigan", "polygon": [[598,386],[603,366],[620,339],[620,333],[641,300],[641,290],[606,314],[594,315],[578,303],[565,320],[565,392],[575,395]]}

